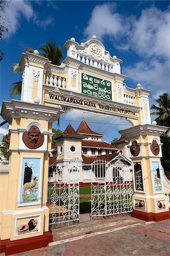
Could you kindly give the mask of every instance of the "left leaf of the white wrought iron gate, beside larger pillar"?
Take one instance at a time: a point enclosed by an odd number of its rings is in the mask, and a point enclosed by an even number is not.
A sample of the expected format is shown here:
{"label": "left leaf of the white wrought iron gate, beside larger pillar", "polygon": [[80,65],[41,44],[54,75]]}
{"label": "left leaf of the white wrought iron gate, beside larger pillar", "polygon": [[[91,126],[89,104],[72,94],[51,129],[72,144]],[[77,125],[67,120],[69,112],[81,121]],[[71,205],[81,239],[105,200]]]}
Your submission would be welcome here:
{"label": "left leaf of the white wrought iron gate, beside larger pillar", "polygon": [[57,166],[48,183],[49,225],[53,228],[79,221],[79,166]]}

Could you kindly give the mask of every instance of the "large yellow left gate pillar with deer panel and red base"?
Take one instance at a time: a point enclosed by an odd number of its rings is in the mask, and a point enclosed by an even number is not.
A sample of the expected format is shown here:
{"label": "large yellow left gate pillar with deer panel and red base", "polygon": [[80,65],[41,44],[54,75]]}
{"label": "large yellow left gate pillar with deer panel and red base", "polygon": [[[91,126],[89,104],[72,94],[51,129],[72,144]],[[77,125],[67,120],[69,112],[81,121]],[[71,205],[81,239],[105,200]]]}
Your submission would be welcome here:
{"label": "large yellow left gate pillar with deer panel and red base", "polygon": [[6,254],[46,246],[52,241],[46,207],[48,154],[52,123],[60,110],[59,106],[44,108],[17,100],[3,102],[1,115],[11,124],[7,195],[0,214],[0,247]]}

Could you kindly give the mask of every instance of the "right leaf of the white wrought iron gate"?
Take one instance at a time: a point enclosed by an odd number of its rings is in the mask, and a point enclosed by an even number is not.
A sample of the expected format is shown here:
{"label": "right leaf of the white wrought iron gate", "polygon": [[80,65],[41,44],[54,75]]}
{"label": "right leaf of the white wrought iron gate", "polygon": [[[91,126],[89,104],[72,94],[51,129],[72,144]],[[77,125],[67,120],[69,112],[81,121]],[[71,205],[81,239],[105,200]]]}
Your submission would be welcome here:
{"label": "right leaf of the white wrought iron gate", "polygon": [[99,159],[92,163],[92,171],[92,218],[131,212],[133,180],[129,166],[119,167]]}

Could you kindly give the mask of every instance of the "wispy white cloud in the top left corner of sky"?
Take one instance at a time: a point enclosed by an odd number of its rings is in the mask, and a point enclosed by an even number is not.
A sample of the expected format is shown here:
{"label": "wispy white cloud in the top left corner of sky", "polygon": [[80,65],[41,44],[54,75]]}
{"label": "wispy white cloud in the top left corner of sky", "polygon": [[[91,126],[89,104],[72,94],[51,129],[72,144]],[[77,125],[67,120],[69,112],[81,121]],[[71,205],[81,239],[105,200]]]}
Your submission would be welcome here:
{"label": "wispy white cloud in the top left corner of sky", "polygon": [[28,21],[32,20],[37,26],[46,28],[49,24],[53,22],[53,18],[48,16],[44,20],[39,19],[39,15],[33,10],[31,2],[24,0],[11,0],[8,3],[8,7],[5,9],[4,15],[6,20],[4,26],[8,28],[8,32],[4,32],[3,37],[5,39],[10,38],[12,34],[18,30],[22,24],[20,19],[24,17]]}

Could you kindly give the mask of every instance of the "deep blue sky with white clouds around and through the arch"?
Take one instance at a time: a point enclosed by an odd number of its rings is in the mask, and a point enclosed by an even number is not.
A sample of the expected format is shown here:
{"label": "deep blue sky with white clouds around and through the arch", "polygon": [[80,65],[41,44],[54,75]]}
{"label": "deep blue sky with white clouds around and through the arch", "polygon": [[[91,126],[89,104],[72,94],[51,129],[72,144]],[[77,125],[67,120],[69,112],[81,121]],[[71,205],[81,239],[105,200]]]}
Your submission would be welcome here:
{"label": "deep blue sky with white clouds around and through the arch", "polygon": [[[1,61],[1,103],[10,101],[9,89],[21,75],[10,70],[18,63],[24,47],[37,49],[56,40],[63,50],[66,40],[86,42],[97,36],[111,53],[122,59],[122,74],[126,84],[135,88],[139,83],[152,91],[150,105],[164,92],[170,81],[170,14],[169,1],[11,1],[5,10],[8,32],[3,35]],[[19,99],[19,97],[18,97]],[[110,142],[118,138],[118,130],[126,129],[124,119],[89,115],[74,110],[61,115],[59,129],[70,122],[76,129],[85,118],[92,130],[104,134]],[[152,118],[153,119],[153,118]],[[2,121],[2,119],[0,119]],[[57,129],[57,123],[53,126]],[[0,139],[6,134],[0,128]]]}

